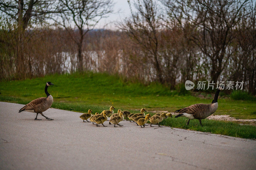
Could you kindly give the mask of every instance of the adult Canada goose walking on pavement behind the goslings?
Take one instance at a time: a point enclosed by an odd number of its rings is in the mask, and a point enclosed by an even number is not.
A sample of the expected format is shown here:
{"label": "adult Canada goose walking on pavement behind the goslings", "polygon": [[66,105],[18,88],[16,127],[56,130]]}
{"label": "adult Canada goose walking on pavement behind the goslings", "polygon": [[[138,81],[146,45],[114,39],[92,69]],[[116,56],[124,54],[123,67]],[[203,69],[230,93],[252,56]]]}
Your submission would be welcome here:
{"label": "adult Canada goose walking on pavement behind the goslings", "polygon": [[35,120],[42,120],[42,119],[37,118],[37,115],[40,113],[46,119],[53,120],[53,119],[50,119],[50,118],[43,115],[43,112],[45,110],[49,109],[52,106],[53,97],[47,91],[48,87],[51,86],[51,85],[54,85],[54,84],[52,84],[50,81],[48,81],[45,85],[44,92],[45,92],[47,97],[40,97],[40,98],[37,98],[35,100],[32,100],[30,103],[28,103],[24,107],[22,107],[19,110],[19,113],[22,112],[22,111],[33,112],[33,113],[36,113]]}

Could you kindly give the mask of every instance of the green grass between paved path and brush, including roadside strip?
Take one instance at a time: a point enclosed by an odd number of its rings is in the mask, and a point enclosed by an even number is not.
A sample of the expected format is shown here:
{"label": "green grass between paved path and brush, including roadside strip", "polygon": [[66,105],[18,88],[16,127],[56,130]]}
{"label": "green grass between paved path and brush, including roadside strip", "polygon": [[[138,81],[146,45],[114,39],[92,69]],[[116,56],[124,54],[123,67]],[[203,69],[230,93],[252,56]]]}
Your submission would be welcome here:
{"label": "green grass between paved path and brush, including roadside strip", "polygon": [[[48,88],[53,96],[53,108],[87,112],[101,112],[111,105],[117,109],[138,112],[142,107],[149,111],[174,110],[195,103],[211,103],[214,94],[207,94],[204,98],[189,95],[180,91],[172,91],[158,83],[143,85],[141,83],[124,82],[118,76],[102,73],[47,75],[41,78],[23,81],[0,82],[0,101],[26,104],[29,101],[45,96],[45,82],[51,81],[54,86]],[[182,87],[181,87],[182,88]],[[220,92],[221,93],[221,92]],[[183,95],[183,96],[178,96]],[[227,96],[218,99],[219,108],[215,114],[231,115],[242,119],[256,119],[255,101],[233,100]],[[191,129],[196,131],[212,132],[217,134],[256,138],[256,127],[239,125],[232,122],[214,121],[204,119],[203,127],[197,120],[191,120],[189,126],[185,125],[185,118],[172,118],[164,120],[162,124]]]}

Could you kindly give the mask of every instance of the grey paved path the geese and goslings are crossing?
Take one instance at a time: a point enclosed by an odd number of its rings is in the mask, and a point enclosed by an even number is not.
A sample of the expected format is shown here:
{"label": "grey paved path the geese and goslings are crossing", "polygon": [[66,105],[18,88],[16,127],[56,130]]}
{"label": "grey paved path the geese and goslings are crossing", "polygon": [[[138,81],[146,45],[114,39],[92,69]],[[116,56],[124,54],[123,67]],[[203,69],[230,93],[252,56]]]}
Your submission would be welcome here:
{"label": "grey paved path the geese and goslings are crossing", "polygon": [[49,109],[54,120],[0,102],[0,169],[255,169],[256,141],[170,127],[83,123],[81,113]]}

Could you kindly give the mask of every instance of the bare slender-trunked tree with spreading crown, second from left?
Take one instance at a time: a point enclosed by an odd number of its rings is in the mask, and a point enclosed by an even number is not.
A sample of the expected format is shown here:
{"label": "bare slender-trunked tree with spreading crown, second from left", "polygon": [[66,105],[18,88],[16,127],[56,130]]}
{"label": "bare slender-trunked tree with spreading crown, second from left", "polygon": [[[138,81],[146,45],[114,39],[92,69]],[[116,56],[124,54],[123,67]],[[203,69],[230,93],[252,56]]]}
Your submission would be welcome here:
{"label": "bare slender-trunked tree with spreading crown, second from left", "polygon": [[94,29],[101,18],[107,17],[107,14],[113,12],[112,0],[60,0],[60,6],[65,12],[60,14],[62,26],[64,26],[70,35],[70,28],[75,26],[78,29],[78,38],[71,36],[77,45],[78,69],[83,71],[83,46],[84,36],[87,32]]}

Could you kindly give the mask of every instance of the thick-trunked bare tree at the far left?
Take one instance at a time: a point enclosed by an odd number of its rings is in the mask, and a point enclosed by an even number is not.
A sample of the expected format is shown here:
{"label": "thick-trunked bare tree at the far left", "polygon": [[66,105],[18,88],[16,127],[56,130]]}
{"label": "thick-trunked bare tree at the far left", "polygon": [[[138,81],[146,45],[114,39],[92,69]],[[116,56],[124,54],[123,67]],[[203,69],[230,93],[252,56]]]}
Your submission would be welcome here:
{"label": "thick-trunked bare tree at the far left", "polygon": [[26,76],[26,60],[24,58],[24,33],[29,25],[42,22],[49,18],[56,10],[55,1],[51,0],[0,0],[0,11],[8,18],[11,18],[17,25],[16,45],[16,73],[18,78]]}

